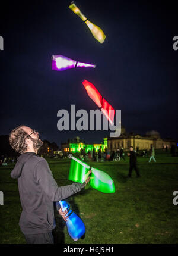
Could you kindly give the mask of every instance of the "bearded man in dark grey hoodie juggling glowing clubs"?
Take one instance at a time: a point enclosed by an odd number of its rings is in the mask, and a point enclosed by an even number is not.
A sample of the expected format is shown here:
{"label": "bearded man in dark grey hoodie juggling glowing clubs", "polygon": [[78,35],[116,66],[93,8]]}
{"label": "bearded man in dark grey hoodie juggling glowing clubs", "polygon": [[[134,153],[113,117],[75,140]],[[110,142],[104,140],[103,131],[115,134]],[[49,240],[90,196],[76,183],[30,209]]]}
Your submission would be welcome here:
{"label": "bearded man in dark grey hoodie juggling glowing clubs", "polygon": [[[20,229],[28,244],[53,244],[52,230],[56,226],[53,202],[66,199],[81,191],[90,177],[87,177],[82,184],[76,182],[68,186],[58,186],[45,158],[37,155],[43,142],[39,138],[39,133],[30,127],[18,126],[12,130],[9,143],[21,154],[11,172],[11,177],[18,179],[23,208],[19,221]],[[65,221],[66,213],[68,211],[62,212],[59,208],[59,214]]]}

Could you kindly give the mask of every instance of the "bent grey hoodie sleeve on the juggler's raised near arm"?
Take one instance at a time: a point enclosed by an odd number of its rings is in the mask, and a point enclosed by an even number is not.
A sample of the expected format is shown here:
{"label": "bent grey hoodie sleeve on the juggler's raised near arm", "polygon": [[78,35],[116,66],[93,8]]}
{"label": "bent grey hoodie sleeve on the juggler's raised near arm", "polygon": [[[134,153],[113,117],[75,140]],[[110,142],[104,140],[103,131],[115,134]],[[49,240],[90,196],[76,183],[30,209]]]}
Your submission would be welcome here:
{"label": "bent grey hoodie sleeve on the juggler's raised near arm", "polygon": [[36,179],[43,191],[53,202],[74,195],[74,193],[81,191],[86,185],[85,182],[82,184],[75,182],[68,186],[58,186],[45,159],[36,164],[36,167],[34,168],[34,179]]}

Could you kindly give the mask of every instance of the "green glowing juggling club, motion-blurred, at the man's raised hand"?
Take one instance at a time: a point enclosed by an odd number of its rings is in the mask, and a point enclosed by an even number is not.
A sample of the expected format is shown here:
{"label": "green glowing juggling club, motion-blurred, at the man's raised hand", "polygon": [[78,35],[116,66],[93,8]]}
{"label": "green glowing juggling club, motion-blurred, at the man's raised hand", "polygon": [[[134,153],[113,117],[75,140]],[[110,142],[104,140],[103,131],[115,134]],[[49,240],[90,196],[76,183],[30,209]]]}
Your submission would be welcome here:
{"label": "green glowing juggling club, motion-blurred, at the man's raised hand", "polygon": [[87,177],[88,170],[91,170],[90,185],[103,193],[115,193],[115,185],[112,178],[104,171],[89,166],[88,164],[69,155],[71,167],[69,170],[69,180],[83,183]]}

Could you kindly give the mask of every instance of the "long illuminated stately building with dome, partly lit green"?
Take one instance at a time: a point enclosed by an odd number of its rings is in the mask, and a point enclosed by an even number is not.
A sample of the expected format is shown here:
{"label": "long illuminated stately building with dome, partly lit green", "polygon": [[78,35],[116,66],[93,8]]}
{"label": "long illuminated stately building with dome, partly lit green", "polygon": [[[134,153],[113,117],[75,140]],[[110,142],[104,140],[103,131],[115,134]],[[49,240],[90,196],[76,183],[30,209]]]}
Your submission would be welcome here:
{"label": "long illuminated stately building with dome, partly lit green", "polygon": [[89,150],[106,147],[109,151],[117,151],[117,149],[124,148],[129,151],[130,146],[134,146],[134,149],[138,148],[139,150],[150,149],[151,145],[155,149],[159,148],[171,148],[171,145],[176,145],[173,139],[162,139],[160,133],[155,132],[154,130],[147,132],[146,135],[139,135],[134,133],[126,133],[125,127],[121,128],[121,135],[119,137],[108,137],[103,139],[103,143],[100,144],[87,144],[82,141],[79,137],[74,139],[68,139],[68,142],[61,143],[62,152],[74,152],[79,153],[82,148],[85,148],[85,152]]}

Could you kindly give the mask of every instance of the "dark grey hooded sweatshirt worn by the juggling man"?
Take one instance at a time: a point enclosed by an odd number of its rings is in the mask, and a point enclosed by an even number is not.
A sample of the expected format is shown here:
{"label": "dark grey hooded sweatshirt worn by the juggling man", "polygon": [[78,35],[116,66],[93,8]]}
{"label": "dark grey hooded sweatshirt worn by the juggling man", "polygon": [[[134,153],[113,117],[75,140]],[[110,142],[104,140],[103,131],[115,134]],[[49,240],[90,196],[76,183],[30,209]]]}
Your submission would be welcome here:
{"label": "dark grey hooded sweatshirt worn by the juggling man", "polygon": [[66,199],[85,186],[85,183],[72,183],[59,187],[47,161],[33,152],[20,155],[11,177],[18,178],[23,208],[19,225],[24,234],[52,231],[56,226],[53,202]]}

